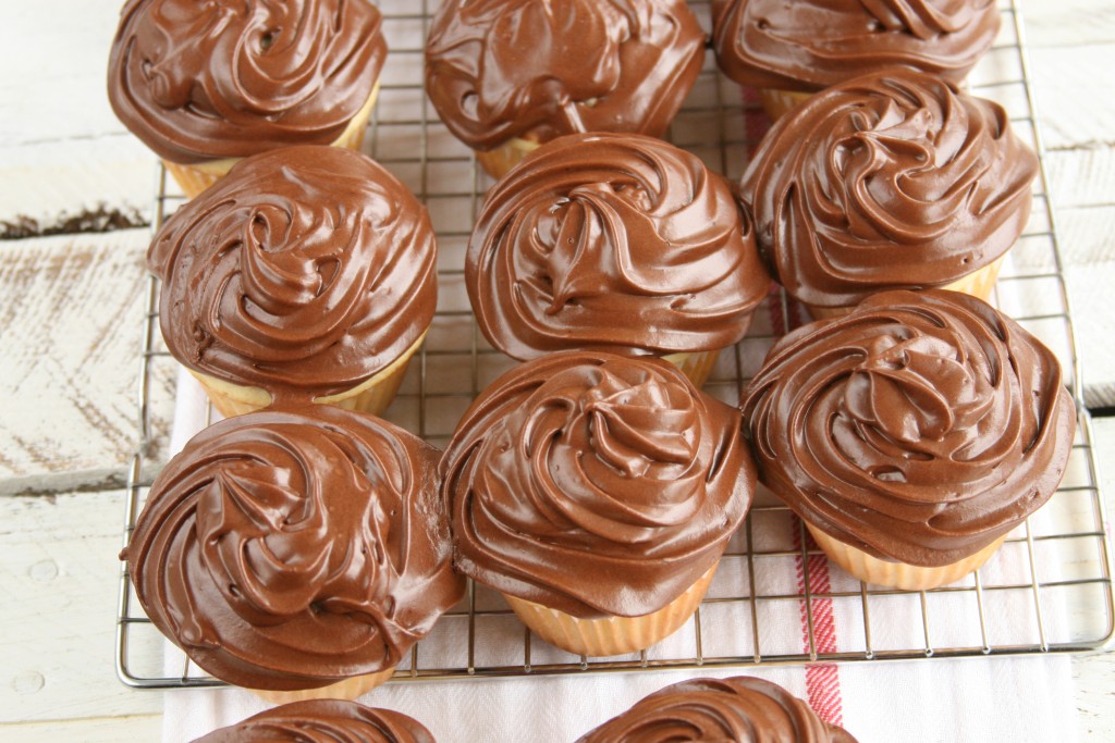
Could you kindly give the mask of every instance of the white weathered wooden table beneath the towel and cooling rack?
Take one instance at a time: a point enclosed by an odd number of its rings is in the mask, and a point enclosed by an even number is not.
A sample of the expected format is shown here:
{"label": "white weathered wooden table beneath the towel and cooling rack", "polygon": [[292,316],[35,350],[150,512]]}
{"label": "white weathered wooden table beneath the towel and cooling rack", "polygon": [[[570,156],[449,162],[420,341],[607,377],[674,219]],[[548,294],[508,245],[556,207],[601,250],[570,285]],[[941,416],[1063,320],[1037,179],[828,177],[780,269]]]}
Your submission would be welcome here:
{"label": "white weathered wooden table beneath the towel and cooling rack", "polygon": [[[0,242],[0,740],[157,740],[162,695],[113,669],[148,232],[76,233],[146,214],[154,162],[104,97],[120,0],[10,4],[0,228],[69,226]],[[1025,0],[1024,11],[1086,400],[1115,407],[1115,3]],[[173,380],[156,388],[165,433]],[[1115,418],[1096,432],[1112,514]],[[1115,740],[1115,655],[1078,657],[1074,671],[1083,739]]]}

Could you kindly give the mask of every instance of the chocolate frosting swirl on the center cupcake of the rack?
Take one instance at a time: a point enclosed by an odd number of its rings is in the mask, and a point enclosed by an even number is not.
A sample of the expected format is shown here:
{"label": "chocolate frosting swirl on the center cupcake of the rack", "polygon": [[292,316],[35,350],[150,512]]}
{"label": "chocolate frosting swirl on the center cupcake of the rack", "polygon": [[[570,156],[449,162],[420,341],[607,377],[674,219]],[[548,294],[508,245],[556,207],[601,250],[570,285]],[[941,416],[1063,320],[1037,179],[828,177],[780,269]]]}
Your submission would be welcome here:
{"label": "chocolate frosting swirl on the center cupcake of the rack", "polygon": [[477,324],[516,359],[726,348],[769,281],[727,182],[634,135],[535,150],[488,192],[465,263]]}

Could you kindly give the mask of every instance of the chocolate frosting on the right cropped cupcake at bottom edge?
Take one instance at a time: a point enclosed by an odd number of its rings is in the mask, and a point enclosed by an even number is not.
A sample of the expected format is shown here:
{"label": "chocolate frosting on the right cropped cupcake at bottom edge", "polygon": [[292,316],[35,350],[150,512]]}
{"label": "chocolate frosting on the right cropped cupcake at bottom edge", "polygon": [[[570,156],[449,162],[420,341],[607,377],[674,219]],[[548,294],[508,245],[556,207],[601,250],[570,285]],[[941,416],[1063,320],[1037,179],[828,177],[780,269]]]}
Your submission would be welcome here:
{"label": "chocolate frosting on the right cropped cupcake at bottom edge", "polygon": [[855,743],[762,678],[694,678],[643,697],[576,743]]}

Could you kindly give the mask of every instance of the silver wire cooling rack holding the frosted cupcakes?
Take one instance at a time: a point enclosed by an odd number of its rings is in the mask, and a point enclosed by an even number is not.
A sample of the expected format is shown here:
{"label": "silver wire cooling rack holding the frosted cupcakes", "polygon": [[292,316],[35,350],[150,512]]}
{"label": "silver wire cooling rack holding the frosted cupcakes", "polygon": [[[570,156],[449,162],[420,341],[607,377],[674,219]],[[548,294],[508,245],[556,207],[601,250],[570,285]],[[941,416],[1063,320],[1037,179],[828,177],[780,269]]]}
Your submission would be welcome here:
{"label": "silver wire cooling rack holding the frosted cupcakes", "polygon": [[[436,2],[436,0],[433,0]],[[392,50],[366,151],[426,203],[438,236],[439,304],[425,346],[387,417],[444,447],[465,408],[511,366],[477,332],[463,285],[473,218],[491,182],[429,107],[421,89],[421,42],[429,7],[384,0]],[[708,1],[691,2],[705,28]],[[1001,7],[1000,39],[969,78],[975,95],[1002,104],[1019,134],[1043,154],[1017,4]],[[738,178],[766,127],[764,114],[711,63],[671,127],[675,144],[715,170]],[[159,172],[153,225],[182,202]],[[143,322],[140,443],[128,473],[125,541],[165,458],[165,400],[176,362],[158,331],[158,285],[152,278]],[[638,654],[573,656],[533,637],[506,604],[469,584],[465,600],[400,664],[395,681],[522,676],[641,668],[697,668],[817,661],[928,658],[1095,649],[1115,634],[1112,555],[1098,489],[1093,432],[1084,409],[1072,312],[1054,212],[1043,167],[1034,214],[1000,274],[997,301],[1061,359],[1079,410],[1068,475],[1050,502],[1014,531],[978,573],[930,592],[882,589],[832,566],[797,518],[760,493],[721,559],[696,616],[673,636]],[[735,403],[776,338],[772,319],[799,312],[775,295],[750,333],[721,354],[705,389]],[[163,408],[166,405],[164,404]],[[143,614],[120,573],[116,663],[132,686],[214,686]]]}

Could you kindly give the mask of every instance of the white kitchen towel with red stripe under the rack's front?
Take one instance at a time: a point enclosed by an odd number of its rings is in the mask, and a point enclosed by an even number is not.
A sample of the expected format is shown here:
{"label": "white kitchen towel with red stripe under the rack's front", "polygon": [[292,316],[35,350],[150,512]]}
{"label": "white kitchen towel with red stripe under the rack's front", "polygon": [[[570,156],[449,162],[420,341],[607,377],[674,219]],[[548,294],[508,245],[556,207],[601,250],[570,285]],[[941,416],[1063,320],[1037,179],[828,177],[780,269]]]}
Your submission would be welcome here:
{"label": "white kitchen towel with red stripe under the rack's front", "polygon": [[[172,450],[205,424],[205,394],[186,373],[180,375]],[[759,502],[772,502],[764,496]],[[1035,534],[1056,525],[1056,511],[1031,518]],[[759,508],[753,514],[754,549],[773,553],[756,569],[757,596],[804,596],[856,593],[859,581],[821,556],[801,553],[803,531],[782,509]],[[813,597],[760,600],[759,645],[767,656],[808,651],[806,628],[813,626],[818,653],[876,654],[929,646],[934,651],[972,647],[983,642],[996,646],[1032,646],[1057,639],[1063,632],[1064,606],[1044,600],[1041,622],[1028,588],[1028,544],[1025,529],[980,571],[982,612],[976,593],[870,594],[854,598]],[[729,551],[741,549],[734,540]],[[1038,542],[1041,579],[1057,580],[1063,557],[1056,548]],[[758,567],[758,566],[757,566]],[[734,595],[745,581],[743,558],[726,558],[710,596]],[[958,585],[971,585],[968,578]],[[1011,588],[1017,586],[1017,588]],[[482,600],[488,600],[484,597]],[[748,656],[754,653],[753,616],[747,603],[707,604],[701,613],[705,657]],[[477,658],[491,664],[521,663],[522,628],[506,617],[503,634],[482,641]],[[514,626],[512,626],[514,625]],[[989,637],[983,637],[982,627]],[[432,653],[459,654],[466,643],[463,622],[440,623],[424,641]],[[870,633],[870,637],[869,637]],[[421,646],[420,646],[421,647]],[[532,644],[532,659],[569,663],[574,656]],[[695,652],[692,622],[649,652],[650,657],[685,657]],[[629,656],[633,657],[633,656]],[[166,667],[181,673],[183,656],[167,644]],[[401,667],[408,667],[409,661]],[[196,668],[194,672],[201,674]],[[619,714],[647,694],[687,677],[754,675],[767,678],[808,701],[825,718],[841,723],[861,742],[870,741],[1074,741],[1076,714],[1073,681],[1066,656],[922,658],[870,661],[844,664],[818,663],[793,666],[709,667],[698,671],[637,671],[624,673],[574,673],[563,676],[515,678],[465,678],[459,681],[398,682],[380,686],[360,701],[370,706],[397,710],[430,729],[442,743],[485,741],[571,742],[595,725]],[[167,692],[164,706],[164,741],[193,741],[266,708],[266,703],[242,690],[182,690]]]}

